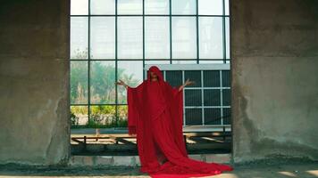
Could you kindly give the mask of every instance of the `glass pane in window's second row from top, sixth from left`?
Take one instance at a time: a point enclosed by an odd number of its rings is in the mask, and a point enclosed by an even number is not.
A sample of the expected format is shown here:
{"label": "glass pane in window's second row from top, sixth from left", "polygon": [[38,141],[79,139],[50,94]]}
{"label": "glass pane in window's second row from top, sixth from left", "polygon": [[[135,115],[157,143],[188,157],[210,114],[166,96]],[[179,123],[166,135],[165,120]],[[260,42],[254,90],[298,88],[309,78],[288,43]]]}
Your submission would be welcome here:
{"label": "glass pane in window's second row from top, sixth from left", "polygon": [[221,17],[199,18],[200,59],[223,59]]}

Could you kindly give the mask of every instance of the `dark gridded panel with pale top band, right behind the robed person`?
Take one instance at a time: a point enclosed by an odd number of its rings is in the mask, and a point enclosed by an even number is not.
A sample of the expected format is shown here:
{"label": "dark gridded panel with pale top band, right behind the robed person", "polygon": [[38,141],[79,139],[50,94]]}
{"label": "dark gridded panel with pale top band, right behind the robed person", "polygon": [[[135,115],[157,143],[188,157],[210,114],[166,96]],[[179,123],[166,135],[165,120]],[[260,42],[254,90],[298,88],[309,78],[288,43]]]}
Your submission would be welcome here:
{"label": "dark gridded panel with pale top band, right behind the robed person", "polygon": [[[149,69],[151,65],[146,65]],[[183,90],[183,125],[230,125],[230,64],[159,64],[164,80]]]}

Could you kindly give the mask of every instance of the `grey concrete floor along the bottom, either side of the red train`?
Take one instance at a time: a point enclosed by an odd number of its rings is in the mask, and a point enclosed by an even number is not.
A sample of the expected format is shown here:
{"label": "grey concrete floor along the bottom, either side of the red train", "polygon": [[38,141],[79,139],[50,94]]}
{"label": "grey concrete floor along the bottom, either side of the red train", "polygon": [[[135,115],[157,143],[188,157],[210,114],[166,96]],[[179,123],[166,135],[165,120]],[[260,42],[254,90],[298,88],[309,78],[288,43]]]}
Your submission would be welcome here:
{"label": "grey concrete floor along the bottom, either side of the red train", "polygon": [[[286,163],[283,165],[235,166],[234,171],[213,178],[314,178],[318,177],[317,162]],[[23,167],[0,166],[0,177],[149,177],[139,174],[138,167]]]}

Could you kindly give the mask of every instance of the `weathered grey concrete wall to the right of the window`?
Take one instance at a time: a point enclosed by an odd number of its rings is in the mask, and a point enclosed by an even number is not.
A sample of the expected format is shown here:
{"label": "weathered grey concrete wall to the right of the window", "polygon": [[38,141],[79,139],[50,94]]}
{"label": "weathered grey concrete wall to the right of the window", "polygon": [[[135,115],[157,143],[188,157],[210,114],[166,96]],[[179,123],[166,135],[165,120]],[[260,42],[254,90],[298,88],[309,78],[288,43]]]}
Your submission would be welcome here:
{"label": "weathered grey concrete wall to the right of the window", "polygon": [[233,158],[318,160],[318,1],[231,0]]}

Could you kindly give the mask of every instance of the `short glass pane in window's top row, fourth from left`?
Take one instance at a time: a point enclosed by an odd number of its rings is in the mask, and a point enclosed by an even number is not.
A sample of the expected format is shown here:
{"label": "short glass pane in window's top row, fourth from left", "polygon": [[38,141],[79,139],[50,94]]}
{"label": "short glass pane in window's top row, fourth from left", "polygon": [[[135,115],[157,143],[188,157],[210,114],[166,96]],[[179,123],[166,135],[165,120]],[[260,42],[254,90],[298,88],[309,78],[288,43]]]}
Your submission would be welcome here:
{"label": "short glass pane in window's top row, fourth from left", "polygon": [[146,0],[145,14],[169,14],[169,0]]}

